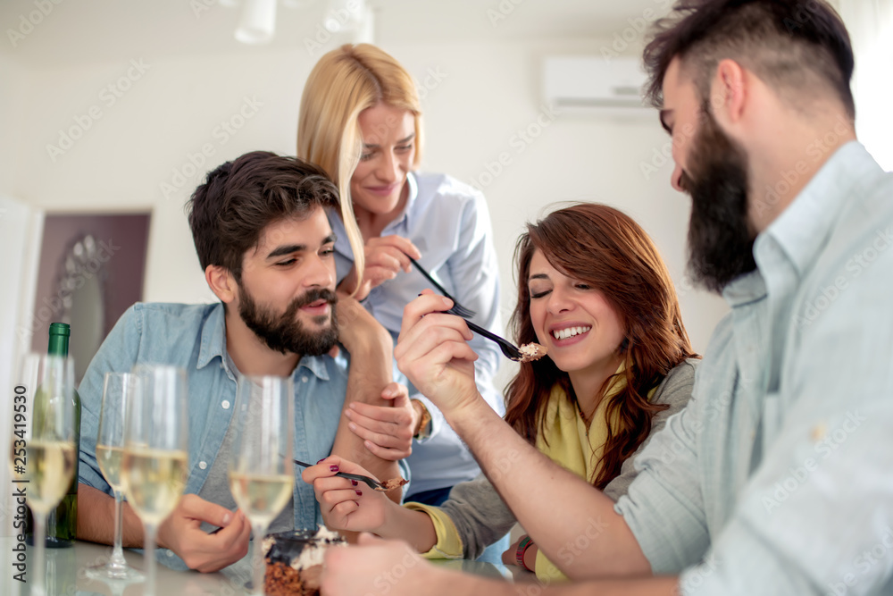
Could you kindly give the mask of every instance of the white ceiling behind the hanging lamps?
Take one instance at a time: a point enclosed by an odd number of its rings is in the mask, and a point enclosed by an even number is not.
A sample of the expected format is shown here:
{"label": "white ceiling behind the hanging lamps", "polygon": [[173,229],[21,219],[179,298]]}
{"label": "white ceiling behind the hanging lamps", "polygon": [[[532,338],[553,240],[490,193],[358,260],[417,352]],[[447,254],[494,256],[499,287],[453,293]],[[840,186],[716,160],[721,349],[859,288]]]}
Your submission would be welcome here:
{"label": "white ceiling behind the hanging lamps", "polygon": [[[59,4],[54,4],[54,3]],[[120,55],[160,58],[255,48],[233,38],[238,0],[0,0],[0,55],[29,68],[64,68]],[[369,0],[375,41],[388,44],[613,38],[630,19],[666,11],[667,0]],[[46,15],[38,13],[45,7]],[[305,47],[327,0],[280,0],[270,46]],[[22,19],[38,21],[29,30]],[[639,21],[641,22],[641,21]],[[9,30],[24,32],[11,39]],[[17,36],[14,36],[17,37]]]}

